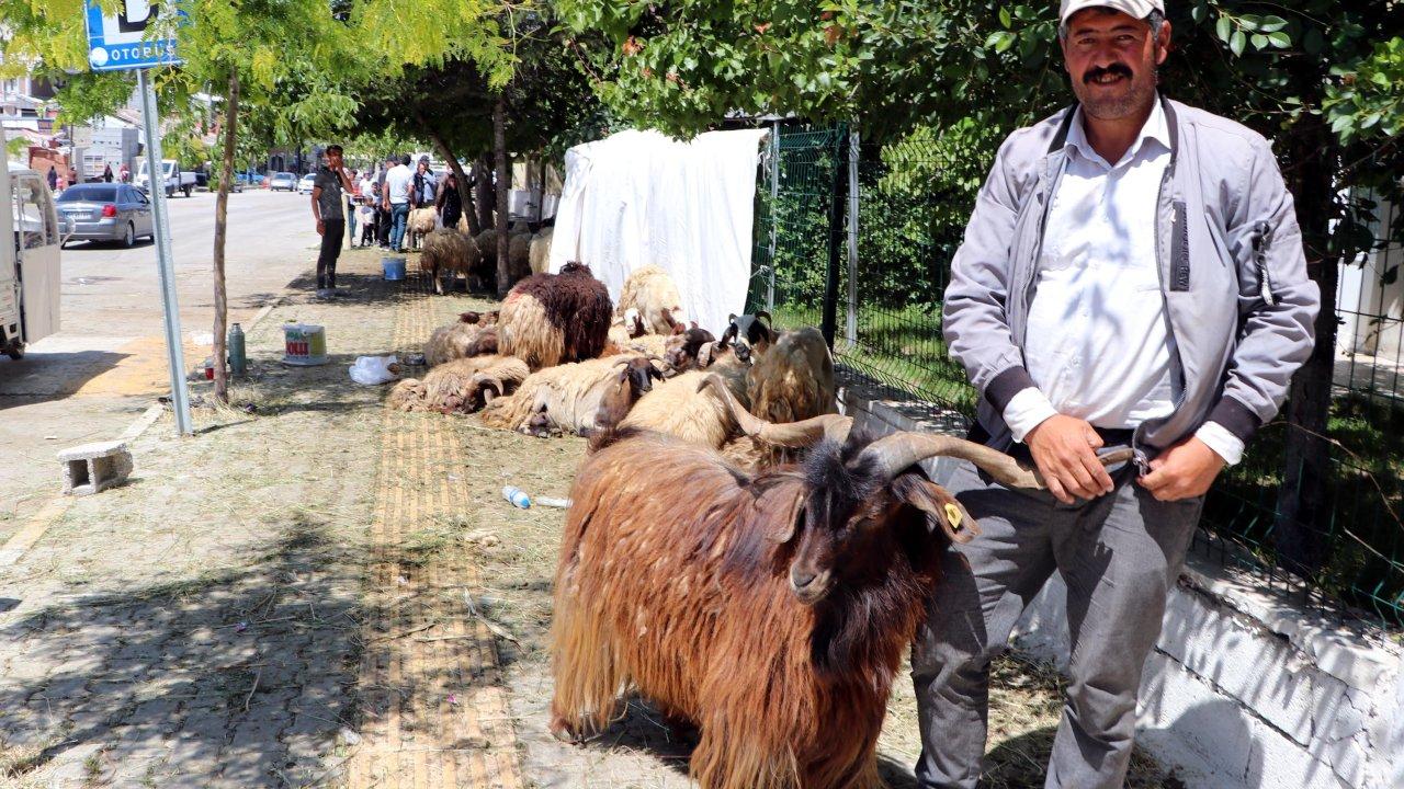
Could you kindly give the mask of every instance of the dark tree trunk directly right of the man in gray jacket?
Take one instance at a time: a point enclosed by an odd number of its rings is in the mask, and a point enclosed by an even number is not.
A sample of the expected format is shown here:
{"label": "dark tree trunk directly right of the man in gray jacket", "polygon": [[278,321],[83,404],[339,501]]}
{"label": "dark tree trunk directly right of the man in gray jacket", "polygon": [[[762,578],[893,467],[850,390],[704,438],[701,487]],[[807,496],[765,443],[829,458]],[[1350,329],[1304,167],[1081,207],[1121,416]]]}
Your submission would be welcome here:
{"label": "dark tree trunk directly right of the man in gray jacket", "polygon": [[1316,320],[1316,347],[1292,378],[1285,417],[1282,487],[1273,528],[1279,564],[1303,578],[1311,578],[1330,553],[1325,539],[1331,522],[1327,480],[1331,445],[1327,434],[1331,411],[1331,379],[1335,361],[1335,291],[1339,257],[1331,251],[1331,219],[1339,213],[1334,174],[1341,161],[1335,135],[1316,115],[1303,115],[1287,138],[1287,185],[1297,204],[1307,275],[1321,288],[1321,312]]}

